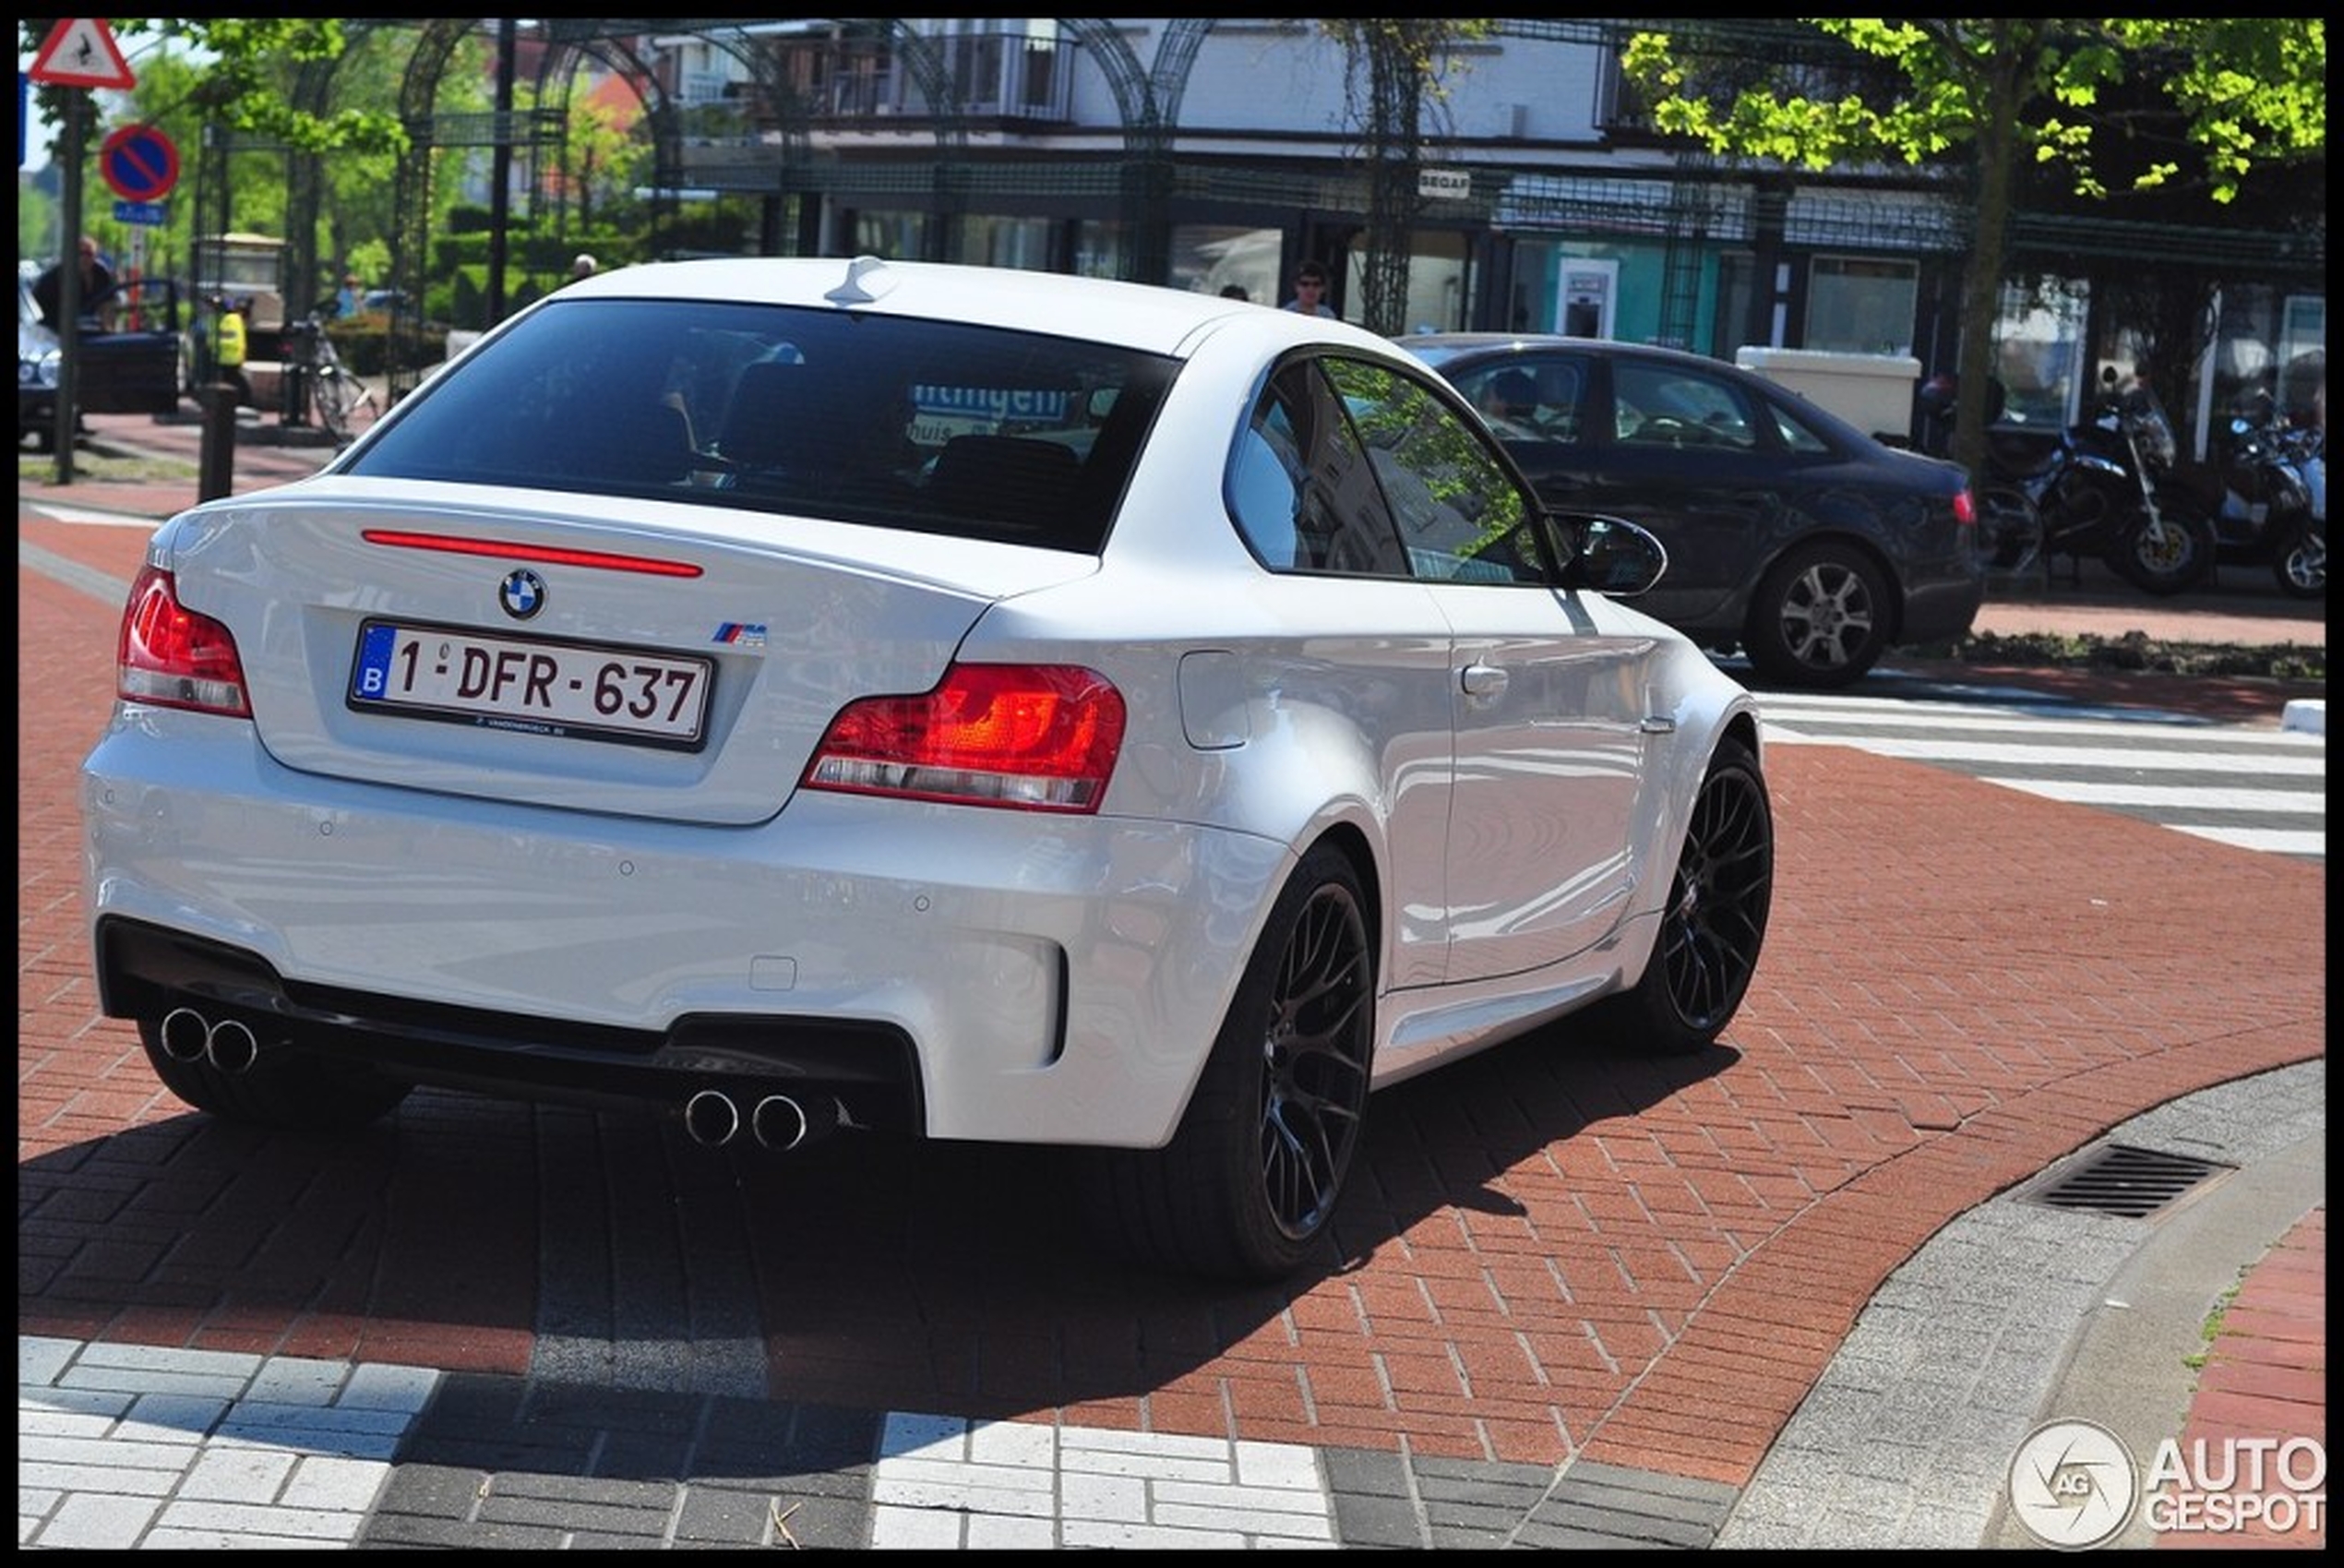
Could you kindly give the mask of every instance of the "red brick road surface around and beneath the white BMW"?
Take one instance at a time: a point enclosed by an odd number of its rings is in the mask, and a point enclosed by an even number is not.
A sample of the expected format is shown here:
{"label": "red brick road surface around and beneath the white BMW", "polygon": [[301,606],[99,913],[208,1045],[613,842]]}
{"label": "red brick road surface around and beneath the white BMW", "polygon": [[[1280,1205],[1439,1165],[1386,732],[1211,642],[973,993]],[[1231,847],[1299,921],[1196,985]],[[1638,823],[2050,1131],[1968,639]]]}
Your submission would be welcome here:
{"label": "red brick road surface around and beneath the white BMW", "polygon": [[[141,530],[19,541],[127,581]],[[258,1137],[185,1116],[94,1013],[73,762],[115,607],[54,584],[19,570],[19,1334],[525,1376],[546,1294],[588,1277],[560,1329],[624,1376],[656,1376],[621,1364],[645,1334],[689,1366],[748,1322],[778,1402],[1397,1453],[1418,1486],[1735,1488],[1950,1219],[2325,1052],[2325,867],[1781,748],[1777,928],[1728,1041],[1533,1038],[1378,1097],[1338,1247],[1292,1289],[1099,1266],[1027,1151],[790,1165],[450,1095],[338,1146]],[[2253,963],[2208,954],[2239,909]]]}

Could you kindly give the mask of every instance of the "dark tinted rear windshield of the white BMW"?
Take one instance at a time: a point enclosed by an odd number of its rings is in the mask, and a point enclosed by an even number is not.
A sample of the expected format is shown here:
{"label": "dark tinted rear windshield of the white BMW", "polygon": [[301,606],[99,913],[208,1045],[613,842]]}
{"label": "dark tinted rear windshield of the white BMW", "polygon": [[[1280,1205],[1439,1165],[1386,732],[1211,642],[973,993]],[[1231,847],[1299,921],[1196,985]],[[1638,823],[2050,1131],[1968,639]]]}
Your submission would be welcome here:
{"label": "dark tinted rear windshield of the white BMW", "polygon": [[556,300],[342,471],[1097,551],[1172,370],[952,321]]}

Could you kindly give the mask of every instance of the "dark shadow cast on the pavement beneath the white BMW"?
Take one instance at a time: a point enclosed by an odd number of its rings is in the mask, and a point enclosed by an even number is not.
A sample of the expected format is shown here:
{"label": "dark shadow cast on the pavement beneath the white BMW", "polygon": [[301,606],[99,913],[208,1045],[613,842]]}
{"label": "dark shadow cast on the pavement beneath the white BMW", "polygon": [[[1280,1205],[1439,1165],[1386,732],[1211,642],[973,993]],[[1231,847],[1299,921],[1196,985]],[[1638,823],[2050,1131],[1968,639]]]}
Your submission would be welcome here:
{"label": "dark shadow cast on the pavement beneath the white BMW", "polygon": [[1106,1256],[1069,1151],[703,1148],[673,1118],[436,1090],[359,1134],[180,1113],[19,1165],[19,1331],[490,1373],[530,1373],[560,1334],[666,1348],[666,1373],[652,1355],[638,1380],[668,1390],[694,1338],[757,1336],[766,1392],[792,1402],[1137,1404],[1263,1343],[1308,1364],[1322,1352],[1296,1324],[1352,1317],[1355,1289],[1404,1298],[1481,1249],[1542,1259],[1556,1301],[1617,1296],[1610,1261],[1570,1277],[1589,1254],[1549,1247],[1552,1193],[1519,1188],[1587,1181],[1620,1158],[1599,1137],[1735,1059],[1641,1062],[1547,1029],[1385,1090],[1324,1259],[1261,1287]]}

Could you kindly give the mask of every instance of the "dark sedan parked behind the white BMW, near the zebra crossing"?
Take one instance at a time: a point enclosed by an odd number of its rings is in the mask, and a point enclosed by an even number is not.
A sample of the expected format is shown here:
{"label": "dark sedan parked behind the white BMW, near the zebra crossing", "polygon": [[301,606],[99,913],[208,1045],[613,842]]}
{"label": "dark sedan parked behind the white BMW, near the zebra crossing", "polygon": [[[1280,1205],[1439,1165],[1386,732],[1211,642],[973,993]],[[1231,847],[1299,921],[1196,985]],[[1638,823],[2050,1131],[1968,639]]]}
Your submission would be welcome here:
{"label": "dark sedan parked behind the white BMW, near the zebra crossing", "polygon": [[1669,572],[1636,600],[1760,677],[1842,687],[1901,642],[1969,630],[1969,480],[1699,354],[1594,338],[1420,333],[1547,506],[1643,523]]}

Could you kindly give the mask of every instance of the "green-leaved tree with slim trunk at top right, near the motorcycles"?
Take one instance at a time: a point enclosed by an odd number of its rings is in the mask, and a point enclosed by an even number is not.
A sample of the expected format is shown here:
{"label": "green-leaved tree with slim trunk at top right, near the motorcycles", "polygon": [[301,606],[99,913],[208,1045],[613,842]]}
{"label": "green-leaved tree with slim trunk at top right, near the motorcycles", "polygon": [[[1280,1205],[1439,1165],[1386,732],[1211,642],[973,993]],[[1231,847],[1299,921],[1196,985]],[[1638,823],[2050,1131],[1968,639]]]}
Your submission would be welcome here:
{"label": "green-leaved tree with slim trunk at top right, near the motorcycles", "polygon": [[[2328,148],[2328,23],[2309,16],[2171,21],[2091,19],[1814,19],[1887,89],[1824,89],[1798,68],[1751,82],[1749,59],[1692,70],[1669,33],[1638,33],[1622,68],[1648,94],[1655,127],[1711,152],[1828,169],[1852,162],[1936,164],[1969,155],[1976,244],[1962,274],[1962,366],[1992,363],[2013,192],[2025,166],[2056,169],[2079,197],[2107,199],[2103,96],[2133,80],[2164,89],[2187,157],[2152,157],[2131,190],[2159,190],[2196,164],[2206,197],[2229,204],[2262,164]],[[1985,459],[1985,375],[1964,375],[1955,459]]]}

